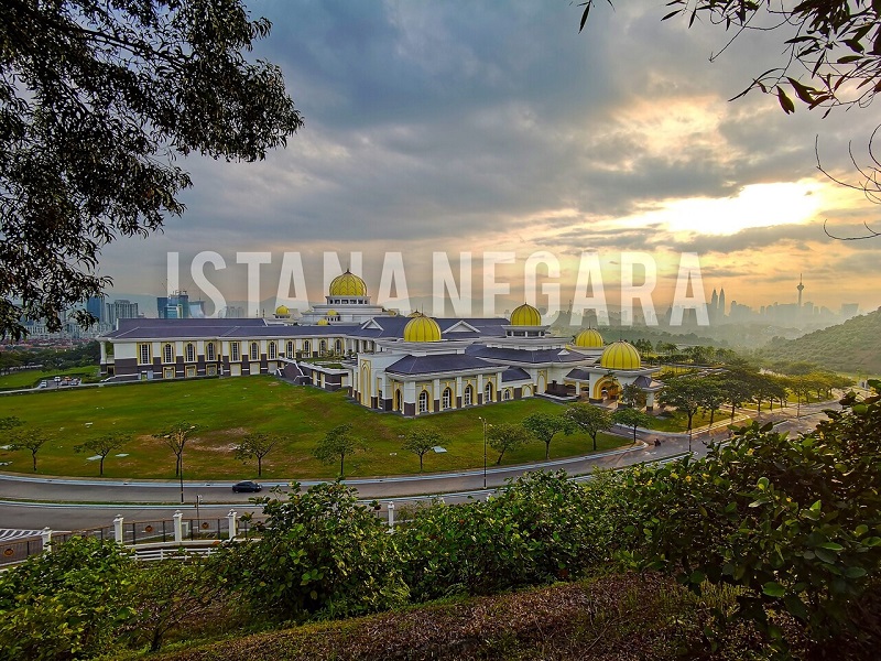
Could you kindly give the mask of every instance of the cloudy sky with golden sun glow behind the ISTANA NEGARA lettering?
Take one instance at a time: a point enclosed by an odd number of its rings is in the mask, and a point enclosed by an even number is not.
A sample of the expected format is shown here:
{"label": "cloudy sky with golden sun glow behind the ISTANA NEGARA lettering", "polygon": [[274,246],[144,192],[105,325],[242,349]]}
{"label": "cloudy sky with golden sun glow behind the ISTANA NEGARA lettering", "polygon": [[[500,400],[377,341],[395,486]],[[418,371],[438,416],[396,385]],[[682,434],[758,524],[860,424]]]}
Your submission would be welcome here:
{"label": "cloudy sky with golden sun glow behind the ISTANA NEGARA lettering", "polygon": [[[261,300],[281,289],[323,302],[325,251],[342,268],[360,252],[374,296],[387,254],[400,253],[405,280],[385,293],[405,285],[416,307],[433,293],[433,253],[460,285],[469,252],[479,315],[490,253],[510,253],[494,267],[496,312],[547,305],[526,280],[557,283],[565,306],[591,251],[612,305],[626,254],[648,256],[662,307],[682,254],[696,253],[707,299],[725,288],[753,307],[794,303],[801,274],[816,305],[881,305],[881,239],[824,232],[826,223],[857,235],[879,209],[818,172],[815,156],[816,139],[824,169],[856,181],[848,142],[866,161],[877,112],[786,116],[758,93],[729,101],[781,64],[782,35],[743,34],[710,62],[721,28],[662,23],[664,2],[614,4],[598,4],[579,34],[568,0],[250,0],[273,23],[252,56],[281,66],[305,126],[259,163],[181,159],[194,182],[184,216],[107,247],[101,274],[113,292],[160,295],[176,251],[193,295],[193,259],[214,251],[226,268],[207,267],[206,279],[243,300],[237,253],[269,252],[259,288],[251,278]],[[543,251],[559,274],[540,266],[526,279]],[[285,253],[300,256],[305,295],[280,277]]]}

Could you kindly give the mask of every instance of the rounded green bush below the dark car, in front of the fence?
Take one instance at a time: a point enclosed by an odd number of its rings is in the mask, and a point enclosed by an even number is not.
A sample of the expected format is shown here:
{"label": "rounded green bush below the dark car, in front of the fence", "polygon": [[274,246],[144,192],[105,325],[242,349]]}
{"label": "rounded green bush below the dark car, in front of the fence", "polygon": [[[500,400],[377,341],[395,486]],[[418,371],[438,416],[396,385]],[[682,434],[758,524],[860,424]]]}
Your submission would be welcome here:
{"label": "rounded green bush below the dark car, in front of the fence", "polygon": [[267,516],[260,539],[225,548],[218,559],[230,585],[262,613],[303,619],[346,617],[399,606],[409,593],[387,525],[339,483],[286,500],[257,499]]}

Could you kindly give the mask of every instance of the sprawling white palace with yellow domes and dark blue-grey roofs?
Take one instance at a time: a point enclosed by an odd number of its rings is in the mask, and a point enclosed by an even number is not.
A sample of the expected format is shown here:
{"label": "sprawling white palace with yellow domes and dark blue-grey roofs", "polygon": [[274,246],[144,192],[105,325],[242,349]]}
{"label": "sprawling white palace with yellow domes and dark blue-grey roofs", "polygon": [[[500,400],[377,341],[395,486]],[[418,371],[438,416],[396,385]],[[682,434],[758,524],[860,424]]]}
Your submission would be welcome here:
{"label": "sprawling white palace with yellow domes and dark blue-grey roofs", "polygon": [[661,384],[622,340],[594,328],[554,337],[527,304],[505,318],[404,317],[372,305],[346,272],[326,303],[273,318],[120,319],[99,338],[101,373],[115,380],[278,375],[359,404],[417,416],[527,397],[601,402],[635,383],[648,405]]}

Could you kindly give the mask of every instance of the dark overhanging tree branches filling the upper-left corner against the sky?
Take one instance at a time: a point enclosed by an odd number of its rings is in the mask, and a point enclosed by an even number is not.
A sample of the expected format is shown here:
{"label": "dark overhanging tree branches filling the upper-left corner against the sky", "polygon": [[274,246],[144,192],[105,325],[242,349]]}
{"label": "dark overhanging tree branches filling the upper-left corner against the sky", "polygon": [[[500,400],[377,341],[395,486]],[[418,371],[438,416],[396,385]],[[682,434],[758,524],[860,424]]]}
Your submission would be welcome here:
{"label": "dark overhanging tree branches filling the upper-left corner against the sky", "polygon": [[178,154],[255,161],[303,123],[281,71],[242,55],[270,31],[242,0],[8,0],[0,26],[3,334],[59,329],[110,283],[104,246],[183,213]]}

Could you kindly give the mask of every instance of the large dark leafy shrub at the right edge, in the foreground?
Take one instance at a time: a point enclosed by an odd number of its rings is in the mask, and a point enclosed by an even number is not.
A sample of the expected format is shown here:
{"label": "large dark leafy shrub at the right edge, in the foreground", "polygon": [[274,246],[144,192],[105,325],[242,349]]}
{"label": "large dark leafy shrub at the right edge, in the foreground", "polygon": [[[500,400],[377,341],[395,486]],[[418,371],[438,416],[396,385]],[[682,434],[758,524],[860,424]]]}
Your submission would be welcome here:
{"label": "large dark leafy shrub at the right edge, in the foreground", "polygon": [[881,403],[845,403],[805,436],[753,423],[706,460],[629,472],[631,557],[695,588],[746,588],[737,616],[772,640],[773,609],[814,639],[847,626],[881,570]]}

